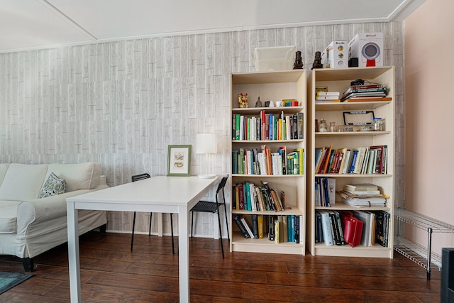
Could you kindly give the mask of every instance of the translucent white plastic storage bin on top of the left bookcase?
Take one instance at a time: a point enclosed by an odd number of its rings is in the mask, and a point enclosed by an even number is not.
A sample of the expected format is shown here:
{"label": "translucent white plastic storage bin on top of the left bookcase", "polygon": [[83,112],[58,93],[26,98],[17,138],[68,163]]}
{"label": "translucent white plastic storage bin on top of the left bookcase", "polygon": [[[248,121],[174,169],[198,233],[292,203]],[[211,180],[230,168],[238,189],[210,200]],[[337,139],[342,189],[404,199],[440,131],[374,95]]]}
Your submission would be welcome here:
{"label": "translucent white plastic storage bin on top of the left bookcase", "polygon": [[266,72],[271,70],[292,70],[297,47],[275,46],[270,48],[255,48],[255,70]]}

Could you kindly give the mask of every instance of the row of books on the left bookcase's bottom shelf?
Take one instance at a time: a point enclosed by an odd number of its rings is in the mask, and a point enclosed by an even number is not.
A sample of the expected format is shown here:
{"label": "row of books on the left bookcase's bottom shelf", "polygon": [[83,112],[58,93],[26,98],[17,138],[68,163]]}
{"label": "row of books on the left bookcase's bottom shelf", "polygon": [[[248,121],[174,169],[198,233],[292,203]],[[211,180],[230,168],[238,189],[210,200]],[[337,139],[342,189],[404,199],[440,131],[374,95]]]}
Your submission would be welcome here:
{"label": "row of books on the left bookcase's bottom shelf", "polygon": [[251,216],[236,214],[233,221],[245,238],[268,238],[275,243],[294,242],[301,243],[303,216],[264,216],[253,214]]}

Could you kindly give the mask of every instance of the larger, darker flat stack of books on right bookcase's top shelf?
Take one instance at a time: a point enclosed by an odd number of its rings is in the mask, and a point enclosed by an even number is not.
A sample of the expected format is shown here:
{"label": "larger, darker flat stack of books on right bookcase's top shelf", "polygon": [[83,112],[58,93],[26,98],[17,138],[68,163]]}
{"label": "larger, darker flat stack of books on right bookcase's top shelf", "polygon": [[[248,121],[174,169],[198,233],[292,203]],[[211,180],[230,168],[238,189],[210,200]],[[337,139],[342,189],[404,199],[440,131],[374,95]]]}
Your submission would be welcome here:
{"label": "larger, darker flat stack of books on right bookcase's top shelf", "polygon": [[341,102],[391,101],[386,93],[387,88],[382,84],[352,85],[343,92]]}

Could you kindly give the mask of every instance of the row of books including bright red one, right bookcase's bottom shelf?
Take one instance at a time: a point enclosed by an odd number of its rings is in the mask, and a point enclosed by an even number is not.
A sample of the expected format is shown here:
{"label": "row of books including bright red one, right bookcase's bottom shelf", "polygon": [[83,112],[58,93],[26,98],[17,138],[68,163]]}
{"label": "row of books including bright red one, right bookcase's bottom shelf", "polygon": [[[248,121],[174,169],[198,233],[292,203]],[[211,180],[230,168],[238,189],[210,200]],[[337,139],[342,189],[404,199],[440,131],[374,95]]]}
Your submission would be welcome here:
{"label": "row of books including bright red one, right bookcase's bottom shelf", "polygon": [[317,210],[315,214],[316,243],[327,246],[389,246],[387,211]]}

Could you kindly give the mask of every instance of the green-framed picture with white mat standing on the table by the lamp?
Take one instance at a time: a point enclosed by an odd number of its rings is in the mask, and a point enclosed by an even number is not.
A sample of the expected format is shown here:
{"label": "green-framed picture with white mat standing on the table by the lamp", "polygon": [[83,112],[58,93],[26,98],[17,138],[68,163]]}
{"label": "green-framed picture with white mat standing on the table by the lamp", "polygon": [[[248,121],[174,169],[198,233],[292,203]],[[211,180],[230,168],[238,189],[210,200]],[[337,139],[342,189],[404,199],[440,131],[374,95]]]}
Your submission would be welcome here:
{"label": "green-framed picture with white mat standing on the table by the lamp", "polygon": [[168,145],[167,176],[191,175],[191,145]]}

